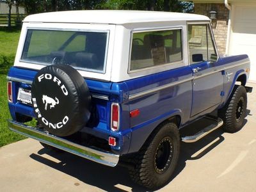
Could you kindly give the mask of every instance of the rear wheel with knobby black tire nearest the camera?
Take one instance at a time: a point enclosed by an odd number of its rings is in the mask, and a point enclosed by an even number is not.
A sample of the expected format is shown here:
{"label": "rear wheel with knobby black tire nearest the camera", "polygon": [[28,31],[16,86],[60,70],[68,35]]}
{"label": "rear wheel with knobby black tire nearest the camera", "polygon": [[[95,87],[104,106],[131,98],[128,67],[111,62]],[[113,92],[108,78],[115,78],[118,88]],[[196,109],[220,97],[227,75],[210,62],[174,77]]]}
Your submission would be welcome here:
{"label": "rear wheel with knobby black tire nearest the camera", "polygon": [[[161,153],[162,145],[165,146],[162,148],[165,149],[165,156],[162,154],[161,158],[160,155],[160,159],[164,161],[159,163],[156,159],[159,158],[157,156]],[[152,132],[140,151],[130,158],[134,163],[134,168],[129,168],[131,179],[148,189],[163,187],[170,182],[179,153],[180,136],[177,125],[173,122],[164,122]]]}

